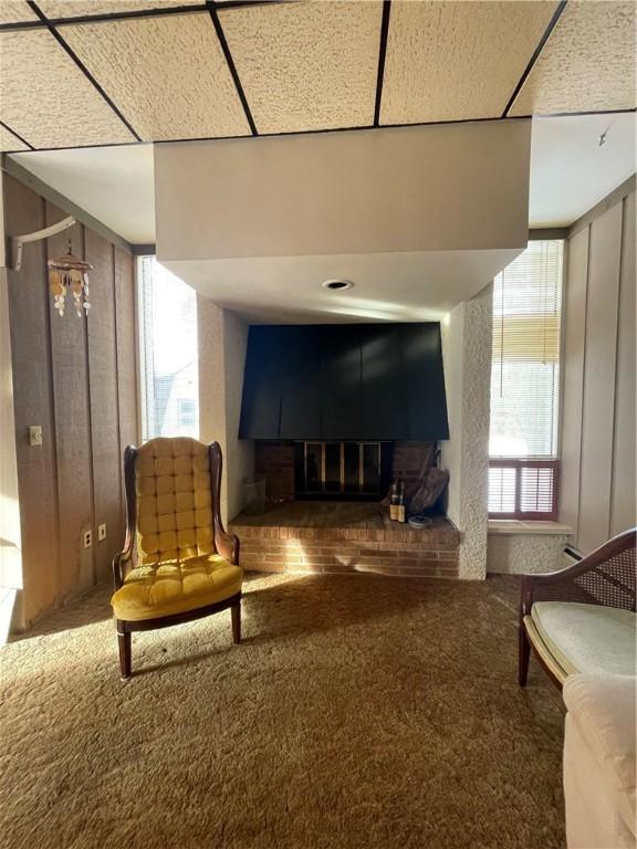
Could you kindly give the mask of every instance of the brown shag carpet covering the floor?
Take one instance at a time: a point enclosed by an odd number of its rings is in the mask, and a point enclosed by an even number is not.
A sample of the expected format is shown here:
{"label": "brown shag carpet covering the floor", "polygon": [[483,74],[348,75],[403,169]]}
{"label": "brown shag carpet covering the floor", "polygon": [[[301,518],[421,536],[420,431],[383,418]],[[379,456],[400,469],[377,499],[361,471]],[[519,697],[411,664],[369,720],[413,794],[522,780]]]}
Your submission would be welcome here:
{"label": "brown shag carpet covering the floor", "polygon": [[558,693],[514,578],[260,576],[134,636],[100,587],[0,650],[3,849],[563,847]]}

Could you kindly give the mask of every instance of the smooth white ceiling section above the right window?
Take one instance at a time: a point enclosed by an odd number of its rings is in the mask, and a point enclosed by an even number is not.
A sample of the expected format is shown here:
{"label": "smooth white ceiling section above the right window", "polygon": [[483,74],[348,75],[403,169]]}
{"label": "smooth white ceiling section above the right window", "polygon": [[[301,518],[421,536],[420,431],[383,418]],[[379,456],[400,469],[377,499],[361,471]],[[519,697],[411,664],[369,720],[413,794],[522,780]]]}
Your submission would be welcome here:
{"label": "smooth white ceiling section above the right window", "polygon": [[634,114],[533,118],[530,227],[567,227],[627,180],[635,138]]}

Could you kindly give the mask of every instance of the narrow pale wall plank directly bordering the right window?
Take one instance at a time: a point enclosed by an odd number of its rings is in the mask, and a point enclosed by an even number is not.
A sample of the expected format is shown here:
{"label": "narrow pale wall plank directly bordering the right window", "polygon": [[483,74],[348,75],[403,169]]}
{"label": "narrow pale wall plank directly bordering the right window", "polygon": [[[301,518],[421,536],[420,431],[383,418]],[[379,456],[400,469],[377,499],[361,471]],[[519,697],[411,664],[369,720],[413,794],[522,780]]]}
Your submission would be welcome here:
{"label": "narrow pale wall plank directly bordering the right window", "polygon": [[577,534],[579,513],[579,461],[582,449],[582,392],[584,387],[584,334],[588,276],[588,228],[568,243],[562,384],[562,465],[560,518]]}

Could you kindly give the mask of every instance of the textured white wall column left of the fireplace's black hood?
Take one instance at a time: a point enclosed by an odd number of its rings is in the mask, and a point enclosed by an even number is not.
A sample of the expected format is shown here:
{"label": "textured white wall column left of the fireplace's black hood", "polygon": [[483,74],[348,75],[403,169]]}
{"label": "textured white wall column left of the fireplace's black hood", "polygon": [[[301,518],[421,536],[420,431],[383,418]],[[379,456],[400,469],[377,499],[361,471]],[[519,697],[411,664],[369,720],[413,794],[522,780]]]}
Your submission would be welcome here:
{"label": "textured white wall column left of the fireplace's black hood", "polygon": [[243,479],[254,473],[253,443],[238,438],[248,325],[201,296],[197,297],[197,323],[199,439],[221,446],[221,516],[228,522],[243,506]]}

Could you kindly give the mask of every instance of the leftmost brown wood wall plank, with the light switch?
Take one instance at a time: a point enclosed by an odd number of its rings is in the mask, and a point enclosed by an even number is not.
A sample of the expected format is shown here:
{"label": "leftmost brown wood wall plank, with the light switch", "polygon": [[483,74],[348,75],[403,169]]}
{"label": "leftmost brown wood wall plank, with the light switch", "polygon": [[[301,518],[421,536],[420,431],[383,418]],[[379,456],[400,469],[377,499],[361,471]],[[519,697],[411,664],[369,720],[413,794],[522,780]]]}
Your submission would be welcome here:
{"label": "leftmost brown wood wall plank, with the light switch", "polygon": [[[44,227],[43,200],[11,177],[4,180],[4,202],[9,234]],[[38,242],[24,249],[21,270],[7,275],[27,626],[54,607],[59,594],[55,430],[44,268],[44,243]],[[42,446],[29,446],[30,424],[42,427]],[[2,439],[9,438],[2,434]]]}

